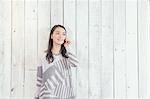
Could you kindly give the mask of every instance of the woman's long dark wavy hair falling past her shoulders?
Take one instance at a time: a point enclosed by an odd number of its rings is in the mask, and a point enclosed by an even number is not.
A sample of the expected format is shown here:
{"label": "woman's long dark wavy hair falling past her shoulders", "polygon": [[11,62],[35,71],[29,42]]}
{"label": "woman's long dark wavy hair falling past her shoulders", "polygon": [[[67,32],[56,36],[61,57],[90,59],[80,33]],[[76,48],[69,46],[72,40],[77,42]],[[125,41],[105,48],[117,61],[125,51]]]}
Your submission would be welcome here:
{"label": "woman's long dark wavy hair falling past her shoulders", "polygon": [[[54,61],[54,57],[53,57],[53,54],[52,54],[52,51],[51,51],[52,48],[53,48],[53,40],[51,39],[51,35],[55,31],[55,29],[58,28],[58,27],[61,27],[61,28],[63,28],[66,31],[65,27],[62,26],[62,25],[54,25],[52,27],[52,29],[50,31],[50,35],[49,35],[48,48],[46,50],[46,60],[48,61],[48,63],[51,63],[51,62]],[[61,45],[60,51],[61,51],[61,54],[62,54],[63,57],[68,58],[68,55],[66,54],[67,50],[66,50],[66,48],[64,46],[64,43]]]}

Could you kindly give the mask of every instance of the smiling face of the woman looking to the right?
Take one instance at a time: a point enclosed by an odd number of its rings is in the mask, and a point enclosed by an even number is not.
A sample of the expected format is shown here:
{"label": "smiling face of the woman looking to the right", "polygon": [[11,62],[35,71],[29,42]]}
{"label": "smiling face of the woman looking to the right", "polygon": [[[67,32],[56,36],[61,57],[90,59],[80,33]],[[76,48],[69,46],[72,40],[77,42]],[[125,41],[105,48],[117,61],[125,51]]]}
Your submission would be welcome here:
{"label": "smiling face of the woman looking to the right", "polygon": [[53,43],[57,45],[63,44],[65,38],[66,38],[66,31],[61,27],[57,27],[51,36],[51,39],[53,39]]}

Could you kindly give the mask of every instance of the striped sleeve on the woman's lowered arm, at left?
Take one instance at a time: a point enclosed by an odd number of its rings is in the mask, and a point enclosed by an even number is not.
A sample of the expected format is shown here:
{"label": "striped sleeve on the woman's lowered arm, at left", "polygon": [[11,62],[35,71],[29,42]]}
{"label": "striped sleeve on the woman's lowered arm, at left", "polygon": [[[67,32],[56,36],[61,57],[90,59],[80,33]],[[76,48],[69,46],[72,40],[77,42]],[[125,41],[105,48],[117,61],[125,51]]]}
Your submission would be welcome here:
{"label": "striped sleeve on the woman's lowered arm, at left", "polygon": [[42,87],[42,72],[43,72],[42,71],[42,63],[41,63],[41,59],[40,59],[37,64],[35,99],[39,99],[40,89]]}

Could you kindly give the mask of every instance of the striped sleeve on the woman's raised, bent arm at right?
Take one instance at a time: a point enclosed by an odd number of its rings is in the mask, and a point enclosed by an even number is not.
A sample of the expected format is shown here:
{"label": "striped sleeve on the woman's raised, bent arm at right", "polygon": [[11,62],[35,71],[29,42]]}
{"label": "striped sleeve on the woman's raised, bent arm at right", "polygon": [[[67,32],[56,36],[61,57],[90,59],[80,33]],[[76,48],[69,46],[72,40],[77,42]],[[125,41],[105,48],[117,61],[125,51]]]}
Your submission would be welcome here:
{"label": "striped sleeve on the woman's raised, bent arm at right", "polygon": [[75,55],[75,52],[72,48],[66,47],[67,53],[68,53],[68,62],[70,66],[77,67],[79,65],[79,60]]}

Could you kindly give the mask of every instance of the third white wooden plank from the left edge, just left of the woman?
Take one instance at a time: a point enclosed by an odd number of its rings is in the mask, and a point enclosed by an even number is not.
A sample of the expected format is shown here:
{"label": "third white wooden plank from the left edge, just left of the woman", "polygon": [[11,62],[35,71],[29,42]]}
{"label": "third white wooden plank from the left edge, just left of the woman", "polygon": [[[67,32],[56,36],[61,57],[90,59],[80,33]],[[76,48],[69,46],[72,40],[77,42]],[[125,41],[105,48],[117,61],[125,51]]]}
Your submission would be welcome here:
{"label": "third white wooden plank from the left edge, just left of the woman", "polygon": [[37,0],[25,1],[25,99],[34,99],[37,63]]}

